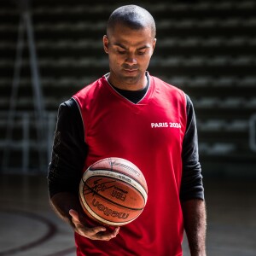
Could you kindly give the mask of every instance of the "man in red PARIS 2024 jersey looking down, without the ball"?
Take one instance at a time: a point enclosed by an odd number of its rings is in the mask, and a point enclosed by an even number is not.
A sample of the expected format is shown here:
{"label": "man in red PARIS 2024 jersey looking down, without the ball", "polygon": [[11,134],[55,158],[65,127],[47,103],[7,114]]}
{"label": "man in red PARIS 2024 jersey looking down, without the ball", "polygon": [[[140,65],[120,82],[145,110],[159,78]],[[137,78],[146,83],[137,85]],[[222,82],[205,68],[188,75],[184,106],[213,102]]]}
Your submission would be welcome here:
{"label": "man in red PARIS 2024 jersey looking down, without the ball", "polygon": [[[156,44],[147,10],[113,11],[103,37],[110,73],[61,104],[49,165],[52,206],[75,231],[78,255],[206,255],[206,212],[193,105],[182,90],[147,72]],[[84,170],[106,157],[130,160],[148,183],[131,224],[110,229],[79,204]]]}

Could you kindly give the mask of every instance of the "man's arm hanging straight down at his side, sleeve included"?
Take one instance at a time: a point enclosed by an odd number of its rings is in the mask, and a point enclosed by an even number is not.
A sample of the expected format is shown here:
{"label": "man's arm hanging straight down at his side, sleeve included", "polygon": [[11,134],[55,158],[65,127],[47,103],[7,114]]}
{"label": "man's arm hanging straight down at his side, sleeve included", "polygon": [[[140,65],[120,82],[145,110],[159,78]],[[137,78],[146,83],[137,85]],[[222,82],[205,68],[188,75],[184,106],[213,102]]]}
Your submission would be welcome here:
{"label": "man's arm hanging straight down at his side, sleeve included", "polygon": [[193,104],[187,96],[187,130],[183,139],[181,204],[183,223],[192,256],[205,256],[206,208]]}

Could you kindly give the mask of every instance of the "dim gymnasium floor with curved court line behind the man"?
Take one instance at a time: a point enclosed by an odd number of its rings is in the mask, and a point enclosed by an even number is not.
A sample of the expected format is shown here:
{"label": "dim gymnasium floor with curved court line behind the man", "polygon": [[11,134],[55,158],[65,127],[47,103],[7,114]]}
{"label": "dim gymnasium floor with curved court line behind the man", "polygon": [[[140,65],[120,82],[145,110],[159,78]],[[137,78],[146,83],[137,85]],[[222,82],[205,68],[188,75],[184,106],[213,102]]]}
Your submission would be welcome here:
{"label": "dim gymnasium floor with curved court line behind the man", "polygon": [[[255,180],[208,177],[205,189],[207,255],[255,256]],[[183,247],[189,255],[186,240]],[[73,231],[49,207],[46,178],[0,175],[0,255],[73,256],[74,251]]]}

